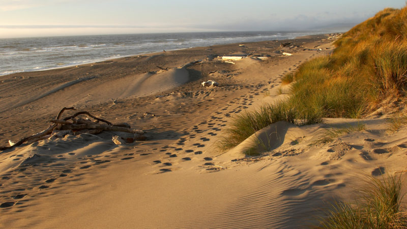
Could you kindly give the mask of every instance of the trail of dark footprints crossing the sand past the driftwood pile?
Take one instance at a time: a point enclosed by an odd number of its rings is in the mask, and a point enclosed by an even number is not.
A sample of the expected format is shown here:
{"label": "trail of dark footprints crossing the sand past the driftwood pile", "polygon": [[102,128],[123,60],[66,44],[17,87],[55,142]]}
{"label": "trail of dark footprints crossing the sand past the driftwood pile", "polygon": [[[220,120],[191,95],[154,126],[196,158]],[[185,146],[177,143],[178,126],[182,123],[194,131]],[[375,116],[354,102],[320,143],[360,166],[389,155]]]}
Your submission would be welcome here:
{"label": "trail of dark footprints crossing the sand past the driftwood pile", "polygon": [[[282,75],[280,75],[280,78],[281,77]],[[269,85],[272,84],[270,88],[275,87],[277,83],[276,80],[268,82]],[[252,105],[254,96],[259,96],[261,92],[260,89],[264,88],[264,86],[265,84],[246,85],[245,88],[250,89],[248,95],[242,95],[239,98],[229,101],[224,108],[215,111],[209,120],[202,121],[193,126],[187,131],[188,134],[185,137],[178,139],[174,146],[164,146],[160,149],[153,149],[153,153],[158,152],[165,155],[161,160],[153,161],[153,164],[159,166],[159,173],[170,172],[172,171],[172,166],[176,163],[192,161],[195,160],[195,158],[202,161],[202,167],[204,169],[219,169],[218,167],[215,167],[216,162],[213,161],[213,158],[203,156],[205,153],[201,149],[212,143],[213,138],[216,138],[219,135],[219,131],[226,127],[227,121],[224,120],[224,118],[238,114],[248,108],[248,106]],[[240,88],[242,88],[242,86],[240,86]],[[263,91],[267,90],[269,89],[263,89]],[[200,91],[197,93],[198,95],[204,94],[205,97],[210,96],[210,92]],[[188,145],[187,142],[189,141],[196,143]],[[149,154],[152,153],[141,153],[138,155],[147,156]],[[67,155],[75,156],[75,153],[68,153]],[[123,155],[119,155],[119,153],[111,153],[111,155],[104,156],[87,155],[85,157],[78,157],[77,159],[81,161],[77,164],[69,164],[63,163],[66,159],[65,155],[58,155],[57,158],[62,161],[61,163],[49,161],[44,164],[27,164],[26,166],[19,167],[11,173],[2,175],[0,181],[3,182],[0,184],[0,187],[7,186],[8,189],[3,189],[3,191],[0,192],[0,197],[3,199],[3,203],[0,204],[0,209],[11,209],[12,207],[16,207],[18,208],[17,211],[23,211],[27,206],[27,202],[40,194],[46,194],[46,190],[53,189],[54,185],[58,186],[58,184],[79,181],[80,176],[83,175],[83,173],[81,173],[82,170],[90,169],[92,167],[103,168],[113,160],[132,160],[135,156],[137,156],[136,153]],[[18,158],[16,158],[16,160],[17,159]],[[37,171],[40,172],[37,173]],[[39,177],[37,174],[50,174],[50,177]],[[9,180],[13,181],[7,182]]]}

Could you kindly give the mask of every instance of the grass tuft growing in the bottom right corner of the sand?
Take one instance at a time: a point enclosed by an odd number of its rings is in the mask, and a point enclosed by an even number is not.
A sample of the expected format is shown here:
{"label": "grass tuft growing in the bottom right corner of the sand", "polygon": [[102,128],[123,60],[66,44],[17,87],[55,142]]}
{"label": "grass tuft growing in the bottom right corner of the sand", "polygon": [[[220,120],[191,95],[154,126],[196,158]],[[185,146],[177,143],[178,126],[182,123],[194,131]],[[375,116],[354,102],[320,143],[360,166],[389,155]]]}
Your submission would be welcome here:
{"label": "grass tuft growing in the bottom right corner of the sand", "polygon": [[383,181],[367,177],[356,190],[354,203],[334,203],[321,220],[321,228],[406,228],[407,214],[401,209],[400,176]]}

